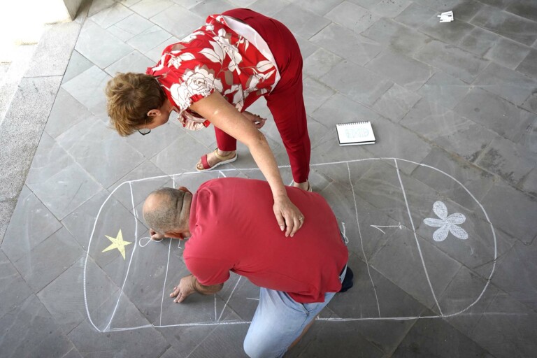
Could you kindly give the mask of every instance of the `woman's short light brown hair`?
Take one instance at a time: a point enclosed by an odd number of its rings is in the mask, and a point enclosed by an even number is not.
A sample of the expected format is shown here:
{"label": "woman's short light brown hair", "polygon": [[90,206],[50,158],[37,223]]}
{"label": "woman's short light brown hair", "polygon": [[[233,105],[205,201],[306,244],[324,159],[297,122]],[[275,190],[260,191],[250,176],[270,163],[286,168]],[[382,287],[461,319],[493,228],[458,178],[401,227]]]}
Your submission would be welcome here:
{"label": "woman's short light brown hair", "polygon": [[166,94],[157,79],[143,73],[117,73],[106,85],[110,122],[121,136],[129,136],[152,118],[148,112],[161,108]]}

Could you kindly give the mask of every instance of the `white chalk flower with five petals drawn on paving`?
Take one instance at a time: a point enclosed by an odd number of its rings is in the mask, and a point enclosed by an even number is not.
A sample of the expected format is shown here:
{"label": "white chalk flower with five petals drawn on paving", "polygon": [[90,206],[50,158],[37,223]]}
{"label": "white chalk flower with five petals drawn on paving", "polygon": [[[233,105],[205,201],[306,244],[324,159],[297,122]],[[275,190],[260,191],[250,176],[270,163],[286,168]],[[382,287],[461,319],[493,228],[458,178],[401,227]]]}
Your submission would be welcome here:
{"label": "white chalk flower with five petals drawn on paving", "polygon": [[466,216],[464,216],[464,214],[454,213],[447,216],[447,208],[442,201],[436,201],[436,203],[433,204],[433,211],[436,216],[440,217],[440,219],[427,217],[423,222],[430,227],[439,228],[434,231],[434,241],[444,241],[450,233],[461,240],[466,240],[468,238],[466,230],[459,227],[459,224],[466,221]]}

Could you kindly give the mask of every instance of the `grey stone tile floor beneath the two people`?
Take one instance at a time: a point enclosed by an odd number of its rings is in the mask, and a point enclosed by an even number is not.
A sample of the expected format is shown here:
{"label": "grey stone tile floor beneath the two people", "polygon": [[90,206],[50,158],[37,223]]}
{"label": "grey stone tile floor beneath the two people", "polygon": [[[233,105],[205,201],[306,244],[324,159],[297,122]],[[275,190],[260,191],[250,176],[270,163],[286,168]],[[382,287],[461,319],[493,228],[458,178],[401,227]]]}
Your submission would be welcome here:
{"label": "grey stone tile floor beneath the two people", "polygon": [[[1,242],[1,357],[244,356],[257,289],[233,276],[214,297],[174,305],[166,293],[185,273],[181,248],[147,243],[136,217],[152,189],[260,178],[255,163],[241,147],[233,166],[192,173],[215,148],[213,131],[171,121],[120,138],[103,96],[114,73],[144,71],[234,7],[275,17],[299,41],[310,180],[345,223],[356,275],[288,356],[535,357],[534,0],[88,4],[40,44],[59,41],[71,56],[33,62],[21,82],[48,90],[13,102],[29,120],[45,111],[46,124],[31,127],[44,127],[41,140],[26,150],[27,176],[13,179],[26,178]],[[439,23],[447,10],[454,22]],[[251,110],[270,119],[262,101]],[[340,147],[334,125],[355,120],[371,120],[378,143]],[[289,182],[270,120],[263,131]],[[445,240],[427,218],[449,229]],[[103,252],[119,234],[125,258]]]}

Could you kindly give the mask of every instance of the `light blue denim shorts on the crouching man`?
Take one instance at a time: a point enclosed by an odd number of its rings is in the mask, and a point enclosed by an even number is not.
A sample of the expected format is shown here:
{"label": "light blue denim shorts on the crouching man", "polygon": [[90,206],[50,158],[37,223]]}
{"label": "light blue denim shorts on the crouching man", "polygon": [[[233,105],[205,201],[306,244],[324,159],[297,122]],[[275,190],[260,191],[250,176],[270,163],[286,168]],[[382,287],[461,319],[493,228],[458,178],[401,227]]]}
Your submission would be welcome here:
{"label": "light blue denim shorts on the crouching man", "polygon": [[[339,277],[341,282],[346,272],[347,266]],[[324,294],[324,302],[298,303],[285,292],[261,288],[259,305],[244,339],[246,354],[251,358],[282,357],[335,295]]]}

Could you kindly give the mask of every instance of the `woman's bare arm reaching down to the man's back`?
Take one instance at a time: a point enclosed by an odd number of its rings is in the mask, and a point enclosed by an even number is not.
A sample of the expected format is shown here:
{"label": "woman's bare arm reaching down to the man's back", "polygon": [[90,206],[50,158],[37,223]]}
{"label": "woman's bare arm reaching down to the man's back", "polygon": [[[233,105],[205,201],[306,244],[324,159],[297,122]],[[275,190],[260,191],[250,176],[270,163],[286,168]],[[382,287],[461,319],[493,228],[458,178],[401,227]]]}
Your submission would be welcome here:
{"label": "woman's bare arm reaching down to the man's back", "polygon": [[190,108],[248,147],[271,187],[274,215],[280,229],[283,231],[287,227],[285,236],[293,236],[302,226],[303,221],[299,218],[303,215],[285,192],[278,165],[265,136],[218,92],[192,103]]}

